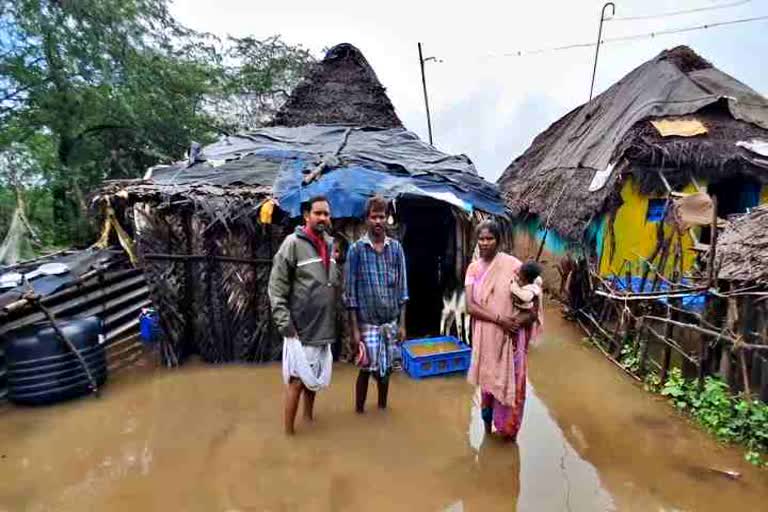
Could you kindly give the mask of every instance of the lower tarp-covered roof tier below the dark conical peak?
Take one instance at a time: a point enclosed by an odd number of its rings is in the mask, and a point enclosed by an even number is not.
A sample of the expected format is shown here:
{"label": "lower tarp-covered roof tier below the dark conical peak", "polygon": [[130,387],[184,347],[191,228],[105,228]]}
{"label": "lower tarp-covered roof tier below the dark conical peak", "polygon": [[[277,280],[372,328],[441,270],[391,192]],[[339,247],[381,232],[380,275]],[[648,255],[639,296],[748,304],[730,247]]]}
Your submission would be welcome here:
{"label": "lower tarp-covered roof tier below the dark conical peak", "polygon": [[[304,180],[320,173],[309,183]],[[342,125],[271,127],[226,137],[193,161],[152,169],[146,180],[115,182],[102,195],[129,201],[247,207],[274,196],[300,214],[302,200],[324,194],[334,217],[357,217],[368,197],[428,197],[460,208],[504,215],[498,187],[465,155],[449,155],[404,128]]]}

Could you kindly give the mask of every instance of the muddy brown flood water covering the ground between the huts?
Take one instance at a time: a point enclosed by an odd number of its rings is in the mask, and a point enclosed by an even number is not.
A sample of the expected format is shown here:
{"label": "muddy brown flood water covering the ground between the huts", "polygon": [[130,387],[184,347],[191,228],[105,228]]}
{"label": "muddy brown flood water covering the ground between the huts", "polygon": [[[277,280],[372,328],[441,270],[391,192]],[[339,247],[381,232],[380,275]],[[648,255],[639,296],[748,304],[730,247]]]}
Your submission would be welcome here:
{"label": "muddy brown flood water covering the ground between the huts", "polygon": [[278,365],[145,366],[98,399],[0,410],[0,510],[768,510],[768,471],[638,388],[555,310],[545,327],[519,446],[483,436],[462,377],[397,374],[391,408],[369,396],[359,416],[355,371],[337,365],[315,422],[288,439]]}

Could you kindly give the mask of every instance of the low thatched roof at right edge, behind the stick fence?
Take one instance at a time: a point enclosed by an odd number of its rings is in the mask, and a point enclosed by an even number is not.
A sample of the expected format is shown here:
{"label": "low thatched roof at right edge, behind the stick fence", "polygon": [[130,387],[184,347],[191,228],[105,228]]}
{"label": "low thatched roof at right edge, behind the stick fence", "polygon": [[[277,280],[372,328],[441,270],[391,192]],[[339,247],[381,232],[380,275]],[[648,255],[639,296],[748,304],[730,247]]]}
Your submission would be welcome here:
{"label": "low thatched roof at right edge, behind the stick fence", "polygon": [[768,205],[732,221],[717,245],[718,277],[768,285]]}

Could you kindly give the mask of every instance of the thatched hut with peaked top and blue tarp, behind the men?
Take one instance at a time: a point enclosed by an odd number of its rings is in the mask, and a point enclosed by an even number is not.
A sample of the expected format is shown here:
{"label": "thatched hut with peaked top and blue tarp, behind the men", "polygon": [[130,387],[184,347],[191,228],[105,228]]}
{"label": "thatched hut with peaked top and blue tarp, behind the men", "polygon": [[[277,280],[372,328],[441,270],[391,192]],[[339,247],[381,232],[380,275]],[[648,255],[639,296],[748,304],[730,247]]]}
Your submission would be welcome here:
{"label": "thatched hut with peaked top and blue tarp, behind the men", "polygon": [[134,226],[174,359],[266,361],[281,347],[266,294],[270,262],[302,203],[326,195],[335,235],[351,242],[375,193],[391,200],[392,231],[406,250],[410,333],[434,333],[443,292],[470,257],[473,224],[505,208],[469,158],[402,127],[349,44],[310,70],[273,126],[192,148],[187,161],[110,184],[99,200]]}

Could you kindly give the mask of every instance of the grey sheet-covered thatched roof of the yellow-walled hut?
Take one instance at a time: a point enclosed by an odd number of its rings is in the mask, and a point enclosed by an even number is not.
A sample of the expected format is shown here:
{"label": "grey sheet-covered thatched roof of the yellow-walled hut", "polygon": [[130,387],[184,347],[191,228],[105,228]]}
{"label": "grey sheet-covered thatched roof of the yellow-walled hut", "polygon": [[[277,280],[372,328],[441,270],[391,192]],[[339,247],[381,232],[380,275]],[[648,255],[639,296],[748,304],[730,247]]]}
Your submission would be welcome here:
{"label": "grey sheet-covered thatched roof of the yellow-walled hut", "polygon": [[[650,125],[694,113],[708,134],[662,138]],[[510,164],[499,185],[513,214],[551,213],[555,230],[580,240],[593,218],[620,201],[627,173],[638,175],[646,191],[663,187],[659,168],[674,183],[691,174],[735,172],[765,180],[761,160],[736,146],[752,138],[768,140],[768,100],[681,46],[556,121]],[[608,178],[590,192],[598,172]]]}

